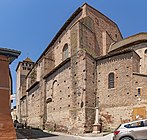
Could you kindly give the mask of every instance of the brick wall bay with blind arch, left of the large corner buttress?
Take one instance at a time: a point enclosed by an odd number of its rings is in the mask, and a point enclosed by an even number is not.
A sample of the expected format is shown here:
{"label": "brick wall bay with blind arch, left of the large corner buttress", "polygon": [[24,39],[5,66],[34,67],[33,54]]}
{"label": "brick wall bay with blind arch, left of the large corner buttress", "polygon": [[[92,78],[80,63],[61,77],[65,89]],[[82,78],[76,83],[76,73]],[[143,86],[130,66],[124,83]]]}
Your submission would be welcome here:
{"label": "brick wall bay with blind arch, left of the large corner buttress", "polygon": [[46,101],[51,99],[47,102],[46,112],[48,130],[67,131],[67,126],[70,126],[69,110],[72,107],[70,69],[68,62],[46,79]]}

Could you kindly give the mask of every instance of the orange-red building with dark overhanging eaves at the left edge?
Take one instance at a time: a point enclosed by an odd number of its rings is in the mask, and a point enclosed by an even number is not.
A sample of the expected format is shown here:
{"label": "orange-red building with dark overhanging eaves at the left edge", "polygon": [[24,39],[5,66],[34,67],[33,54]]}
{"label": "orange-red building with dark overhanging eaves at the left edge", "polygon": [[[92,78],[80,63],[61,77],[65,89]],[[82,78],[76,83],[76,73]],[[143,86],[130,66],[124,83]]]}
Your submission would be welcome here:
{"label": "orange-red building with dark overhanging eaves at the left edge", "polygon": [[19,55],[19,51],[0,48],[0,140],[16,139],[16,132],[10,113],[12,78],[9,64]]}

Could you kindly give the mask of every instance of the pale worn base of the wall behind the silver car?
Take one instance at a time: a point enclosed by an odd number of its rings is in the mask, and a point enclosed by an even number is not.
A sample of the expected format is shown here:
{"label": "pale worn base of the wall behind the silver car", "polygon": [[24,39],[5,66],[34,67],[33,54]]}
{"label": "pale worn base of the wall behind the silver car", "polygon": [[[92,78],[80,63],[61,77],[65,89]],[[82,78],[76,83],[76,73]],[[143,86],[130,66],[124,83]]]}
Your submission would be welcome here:
{"label": "pale worn base of the wall behind the silver car", "polygon": [[[103,131],[113,131],[119,124],[133,121],[133,108],[147,108],[147,105],[132,105],[122,107],[103,108],[100,112]],[[137,120],[137,118],[135,119]]]}

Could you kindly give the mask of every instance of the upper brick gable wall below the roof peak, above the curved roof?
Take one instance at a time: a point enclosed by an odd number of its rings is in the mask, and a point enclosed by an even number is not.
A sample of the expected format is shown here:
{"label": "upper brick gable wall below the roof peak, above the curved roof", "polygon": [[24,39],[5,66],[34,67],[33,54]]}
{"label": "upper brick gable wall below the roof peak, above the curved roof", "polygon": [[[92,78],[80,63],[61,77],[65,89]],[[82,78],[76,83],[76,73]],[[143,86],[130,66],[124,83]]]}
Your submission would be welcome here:
{"label": "upper brick gable wall below the roof peak, above the curved roof", "polygon": [[119,28],[112,20],[90,6],[87,6],[87,16],[93,21],[97,53],[99,55],[105,55],[111,43],[122,40]]}

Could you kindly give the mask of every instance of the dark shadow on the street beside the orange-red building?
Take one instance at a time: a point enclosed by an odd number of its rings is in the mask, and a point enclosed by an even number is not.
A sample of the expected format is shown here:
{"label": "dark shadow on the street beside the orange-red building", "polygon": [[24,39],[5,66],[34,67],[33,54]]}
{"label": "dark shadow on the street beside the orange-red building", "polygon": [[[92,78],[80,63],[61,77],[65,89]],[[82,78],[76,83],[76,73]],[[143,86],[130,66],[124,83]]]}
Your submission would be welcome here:
{"label": "dark shadow on the street beside the orange-red building", "polygon": [[54,137],[58,135],[50,134],[43,132],[40,129],[31,128],[31,129],[16,129],[17,139],[37,139],[45,137]]}

